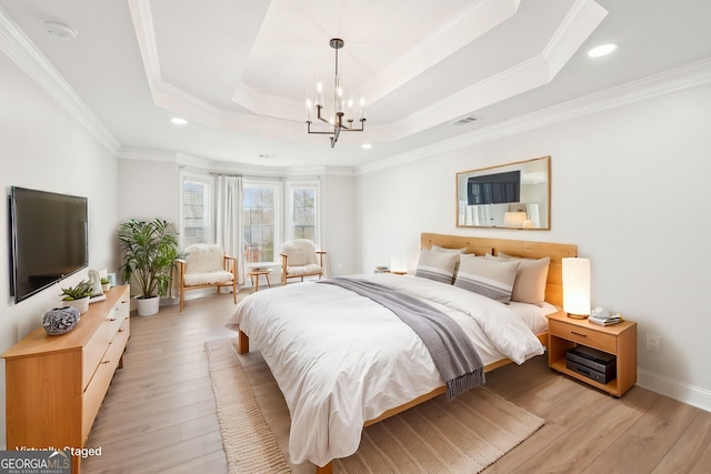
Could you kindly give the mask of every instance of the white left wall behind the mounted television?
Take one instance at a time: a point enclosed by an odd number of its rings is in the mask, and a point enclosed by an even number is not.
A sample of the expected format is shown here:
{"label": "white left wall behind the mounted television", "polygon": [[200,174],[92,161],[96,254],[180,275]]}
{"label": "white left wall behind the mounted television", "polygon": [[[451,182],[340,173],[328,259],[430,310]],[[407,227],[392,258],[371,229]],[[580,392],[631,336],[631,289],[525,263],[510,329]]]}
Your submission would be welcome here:
{"label": "white left wall behind the mounted television", "polygon": [[[116,271],[112,245],[117,222],[118,159],[70,117],[7,56],[0,54],[0,185],[87,196],[89,200],[89,268]],[[9,293],[8,205],[0,218],[0,352],[41,324],[59,301],[52,286],[14,304]],[[80,272],[62,282],[87,278]],[[4,361],[0,363],[0,406],[4,407]],[[1,410],[0,445],[6,443]]]}

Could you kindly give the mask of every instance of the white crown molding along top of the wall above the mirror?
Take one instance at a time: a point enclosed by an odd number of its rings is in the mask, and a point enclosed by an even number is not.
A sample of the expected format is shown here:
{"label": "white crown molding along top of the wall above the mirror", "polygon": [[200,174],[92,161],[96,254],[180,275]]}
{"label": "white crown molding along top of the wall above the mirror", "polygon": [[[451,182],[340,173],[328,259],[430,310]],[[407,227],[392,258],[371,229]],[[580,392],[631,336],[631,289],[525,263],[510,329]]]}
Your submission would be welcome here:
{"label": "white crown molding along top of the wall above the mirror", "polygon": [[579,99],[552,105],[514,119],[505,120],[478,130],[472,130],[452,139],[441,140],[415,151],[401,153],[389,159],[365,163],[356,168],[356,174],[393,168],[409,162],[431,158],[463,148],[485,143],[517,133],[535,130],[565,120],[615,109],[634,102],[664,95],[679,90],[711,82],[711,58],[682,65],[658,74],[628,82]]}

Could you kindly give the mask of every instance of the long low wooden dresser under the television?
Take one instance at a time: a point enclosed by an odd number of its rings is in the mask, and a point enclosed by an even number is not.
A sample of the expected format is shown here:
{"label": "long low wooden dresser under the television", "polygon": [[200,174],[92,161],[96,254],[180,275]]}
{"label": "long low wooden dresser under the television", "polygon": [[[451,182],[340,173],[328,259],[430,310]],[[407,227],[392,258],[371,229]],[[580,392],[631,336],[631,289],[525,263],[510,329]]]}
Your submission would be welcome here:
{"label": "long low wooden dresser under the television", "polygon": [[[8,450],[84,447],[130,334],[129,286],[89,306],[67,334],[42,326],[2,354]],[[78,473],[81,457],[73,456]]]}

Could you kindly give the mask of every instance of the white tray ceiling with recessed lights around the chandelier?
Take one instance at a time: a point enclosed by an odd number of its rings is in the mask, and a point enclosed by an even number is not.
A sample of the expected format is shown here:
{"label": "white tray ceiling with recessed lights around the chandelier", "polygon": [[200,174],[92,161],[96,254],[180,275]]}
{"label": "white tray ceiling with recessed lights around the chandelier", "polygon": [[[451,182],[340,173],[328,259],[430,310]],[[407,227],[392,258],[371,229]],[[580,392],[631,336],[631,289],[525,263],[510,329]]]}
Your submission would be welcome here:
{"label": "white tray ceiling with recessed lights around the chandelier", "polygon": [[[0,0],[0,46],[20,44],[40,64],[47,58],[49,75],[88,107],[120,154],[270,167],[367,165],[711,57],[708,0]],[[49,34],[46,21],[76,29],[77,38]],[[367,115],[365,131],[341,133],[334,149],[327,135],[307,134],[304,123],[317,81],[327,88],[326,113],[333,109],[331,38],[346,42],[339,70],[347,94],[364,98]],[[605,42],[618,50],[587,57]],[[171,124],[172,117],[189,123]],[[454,124],[467,117],[478,120]]]}

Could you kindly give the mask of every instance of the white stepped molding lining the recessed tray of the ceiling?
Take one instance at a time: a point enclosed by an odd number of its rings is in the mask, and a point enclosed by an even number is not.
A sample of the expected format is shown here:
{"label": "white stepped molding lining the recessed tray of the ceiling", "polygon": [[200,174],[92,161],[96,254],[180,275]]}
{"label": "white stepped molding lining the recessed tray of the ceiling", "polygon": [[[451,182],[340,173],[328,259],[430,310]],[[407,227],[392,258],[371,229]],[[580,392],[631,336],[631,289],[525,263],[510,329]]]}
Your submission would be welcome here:
{"label": "white stepped molding lining the recessed tray of the ceiling", "polygon": [[[443,56],[449,56],[515,16],[520,0],[475,0],[460,16],[439,30],[365,85],[372,104],[412,77],[421,74]],[[299,102],[260,94],[238,82],[232,101],[253,114],[229,112],[194,97],[166,81],[160,71],[150,0],[129,0],[136,36],[143,59],[153,103],[190,120],[217,129],[247,133],[273,134],[306,141],[294,132],[302,121]],[[600,24],[607,11],[594,0],[577,0],[543,50],[509,69],[474,83],[439,102],[420,109],[392,123],[369,125],[375,141],[394,141],[452,121],[459,117],[549,83],[570,57]]]}

